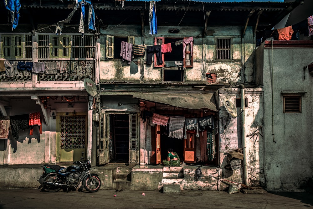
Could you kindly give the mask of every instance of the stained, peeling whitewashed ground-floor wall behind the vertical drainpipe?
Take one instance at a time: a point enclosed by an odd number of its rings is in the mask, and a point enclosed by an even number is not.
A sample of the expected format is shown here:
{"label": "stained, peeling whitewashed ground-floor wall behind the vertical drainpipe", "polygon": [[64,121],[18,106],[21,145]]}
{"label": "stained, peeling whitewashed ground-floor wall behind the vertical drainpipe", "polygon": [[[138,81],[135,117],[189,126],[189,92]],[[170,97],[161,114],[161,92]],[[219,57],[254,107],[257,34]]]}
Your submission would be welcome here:
{"label": "stained, peeling whitewashed ground-floor wall behind the vertical drainpipe", "polygon": [[[247,150],[247,172],[250,186],[264,185],[263,170],[263,89],[245,88],[245,141]],[[232,118],[226,111],[223,99],[228,98],[235,105],[235,99],[240,98],[240,89],[225,88],[218,93],[219,104],[219,146],[221,177],[234,182],[244,182],[243,166],[241,170],[229,168],[227,154],[237,148],[242,148],[241,108],[237,108],[237,117]],[[243,165],[243,161],[242,161]]]}

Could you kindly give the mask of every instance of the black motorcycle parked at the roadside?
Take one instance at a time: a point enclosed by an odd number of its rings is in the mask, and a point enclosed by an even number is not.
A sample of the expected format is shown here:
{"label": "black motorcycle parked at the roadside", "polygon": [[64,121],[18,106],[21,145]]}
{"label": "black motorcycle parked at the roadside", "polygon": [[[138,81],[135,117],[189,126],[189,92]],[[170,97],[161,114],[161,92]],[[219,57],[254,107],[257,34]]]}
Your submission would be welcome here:
{"label": "black motorcycle parked at the roadside", "polygon": [[89,192],[96,192],[100,189],[101,180],[97,174],[90,173],[90,161],[84,160],[84,152],[80,161],[76,161],[69,167],[61,167],[59,165],[42,165],[44,172],[38,176],[40,186],[38,189],[43,188],[48,192],[57,192],[60,189],[66,189],[67,192],[75,191],[76,188],[82,183],[79,190],[85,188]]}

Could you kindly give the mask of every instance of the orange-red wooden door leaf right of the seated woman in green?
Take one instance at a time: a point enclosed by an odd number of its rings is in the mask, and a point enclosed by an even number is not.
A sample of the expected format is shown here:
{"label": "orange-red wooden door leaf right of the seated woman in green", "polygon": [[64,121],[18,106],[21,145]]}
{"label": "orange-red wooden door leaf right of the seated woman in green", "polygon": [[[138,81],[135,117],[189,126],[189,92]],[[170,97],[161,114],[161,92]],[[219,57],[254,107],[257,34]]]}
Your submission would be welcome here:
{"label": "orange-red wooden door leaf right of the seated woman in green", "polygon": [[184,162],[196,162],[196,133],[187,130],[187,138],[184,139]]}

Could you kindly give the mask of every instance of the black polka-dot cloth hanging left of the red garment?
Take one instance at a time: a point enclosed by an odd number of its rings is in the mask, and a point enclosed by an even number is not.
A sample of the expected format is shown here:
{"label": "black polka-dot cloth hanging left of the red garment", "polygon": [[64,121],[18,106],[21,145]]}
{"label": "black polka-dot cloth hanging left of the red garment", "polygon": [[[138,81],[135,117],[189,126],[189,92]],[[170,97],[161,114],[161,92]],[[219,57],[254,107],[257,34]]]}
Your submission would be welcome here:
{"label": "black polka-dot cloth hanging left of the red garment", "polygon": [[18,132],[20,129],[25,131],[26,129],[29,128],[28,122],[29,122],[28,114],[10,116],[12,136],[15,139],[18,139]]}

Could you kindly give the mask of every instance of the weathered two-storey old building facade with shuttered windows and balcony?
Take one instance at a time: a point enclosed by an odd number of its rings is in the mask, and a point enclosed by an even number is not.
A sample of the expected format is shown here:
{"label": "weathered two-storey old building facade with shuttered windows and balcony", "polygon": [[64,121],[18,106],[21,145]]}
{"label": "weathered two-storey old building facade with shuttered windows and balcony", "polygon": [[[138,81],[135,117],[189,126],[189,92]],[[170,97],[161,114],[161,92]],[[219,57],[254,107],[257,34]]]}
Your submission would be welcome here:
{"label": "weathered two-storey old building facade with shuttered windows and balcony", "polygon": [[[96,1],[89,4],[94,30],[87,29],[90,18],[85,29],[79,25],[81,2],[22,4],[21,14],[34,13],[26,23],[21,15],[13,33],[3,26],[1,60],[65,61],[66,70],[19,70],[12,77],[2,72],[2,115],[40,112],[44,120],[42,134],[19,130],[19,140],[3,140],[0,164],[72,162],[84,151],[106,189],[177,183],[181,189],[217,190],[226,186],[221,179],[266,185],[269,145],[262,131],[264,89],[255,78],[256,41],[299,2],[248,2],[153,2],[153,28],[151,2]],[[60,19],[56,11],[62,11]],[[127,56],[123,49],[130,44],[139,52]],[[157,117],[162,121],[153,123]],[[175,135],[171,120],[177,118],[210,122],[198,133],[183,128]],[[168,148],[186,165],[159,165]],[[234,169],[228,153],[238,148],[244,159]],[[198,168],[203,175],[195,180]]]}

